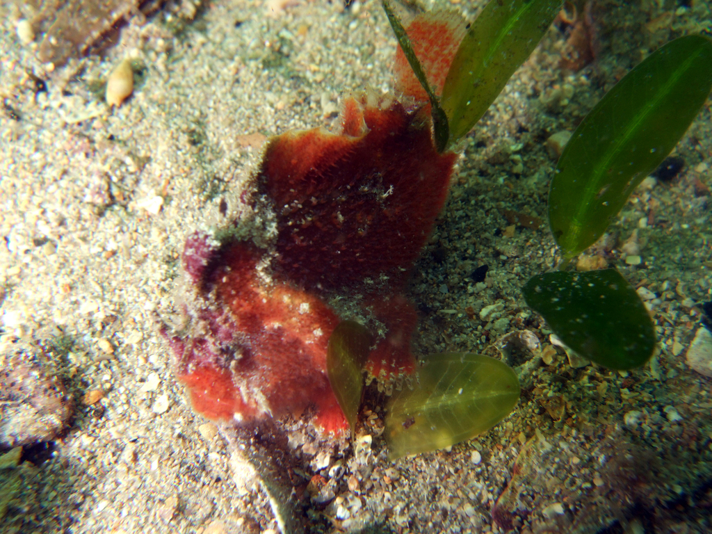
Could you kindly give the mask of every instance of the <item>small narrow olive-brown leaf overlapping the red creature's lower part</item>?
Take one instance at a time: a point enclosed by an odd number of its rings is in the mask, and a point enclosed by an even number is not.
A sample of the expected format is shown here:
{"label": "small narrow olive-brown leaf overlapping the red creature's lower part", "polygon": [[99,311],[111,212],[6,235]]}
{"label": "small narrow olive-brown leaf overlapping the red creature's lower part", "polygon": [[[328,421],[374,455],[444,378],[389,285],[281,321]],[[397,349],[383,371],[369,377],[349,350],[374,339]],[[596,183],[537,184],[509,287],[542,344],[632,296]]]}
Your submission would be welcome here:
{"label": "small narrow olive-brown leaf overlapping the red creature's lower part", "polygon": [[355,321],[342,321],[329,337],[326,372],[331,389],[354,435],[361,404],[361,371],[371,350],[372,337],[367,328]]}

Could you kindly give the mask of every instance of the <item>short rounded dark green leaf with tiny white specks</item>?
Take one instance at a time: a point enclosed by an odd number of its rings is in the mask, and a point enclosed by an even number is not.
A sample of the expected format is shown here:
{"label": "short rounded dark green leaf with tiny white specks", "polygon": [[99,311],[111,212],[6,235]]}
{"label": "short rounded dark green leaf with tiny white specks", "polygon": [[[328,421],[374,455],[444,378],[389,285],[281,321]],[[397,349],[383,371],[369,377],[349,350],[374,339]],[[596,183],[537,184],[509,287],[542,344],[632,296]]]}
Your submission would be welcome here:
{"label": "short rounded dark green leaf with tiny white specks", "polygon": [[635,289],[615,269],[535,276],[523,289],[567,347],[604,367],[631,369],[649,360],[653,322]]}

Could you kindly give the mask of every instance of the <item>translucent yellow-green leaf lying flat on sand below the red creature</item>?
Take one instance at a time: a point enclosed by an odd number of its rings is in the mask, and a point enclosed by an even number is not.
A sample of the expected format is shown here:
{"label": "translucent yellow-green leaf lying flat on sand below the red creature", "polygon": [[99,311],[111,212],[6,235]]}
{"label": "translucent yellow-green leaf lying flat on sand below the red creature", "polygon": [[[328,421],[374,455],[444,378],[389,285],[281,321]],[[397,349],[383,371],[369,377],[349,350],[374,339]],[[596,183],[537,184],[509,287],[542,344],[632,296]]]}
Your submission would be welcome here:
{"label": "translucent yellow-green leaf lying flat on sand below the red creature", "polygon": [[389,401],[384,435],[390,459],[471,439],[507,417],[519,399],[514,371],[479,354],[430,355],[418,378],[415,389]]}

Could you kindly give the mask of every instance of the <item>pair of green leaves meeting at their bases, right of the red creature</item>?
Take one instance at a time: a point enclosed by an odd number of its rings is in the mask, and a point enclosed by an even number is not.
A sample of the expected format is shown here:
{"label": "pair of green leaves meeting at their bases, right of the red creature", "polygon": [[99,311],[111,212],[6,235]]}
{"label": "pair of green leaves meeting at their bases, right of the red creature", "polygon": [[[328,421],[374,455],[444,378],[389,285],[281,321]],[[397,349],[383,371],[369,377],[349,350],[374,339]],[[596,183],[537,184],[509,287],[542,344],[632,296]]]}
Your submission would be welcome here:
{"label": "pair of green leaves meeting at their bases, right of the red creature", "polygon": [[[642,180],[665,159],[712,89],[712,39],[670,41],[633,68],[581,122],[556,167],[549,224],[565,268],[594,244]],[[631,369],[653,355],[652,320],[618,271],[532,278],[525,300],[580,356]]]}

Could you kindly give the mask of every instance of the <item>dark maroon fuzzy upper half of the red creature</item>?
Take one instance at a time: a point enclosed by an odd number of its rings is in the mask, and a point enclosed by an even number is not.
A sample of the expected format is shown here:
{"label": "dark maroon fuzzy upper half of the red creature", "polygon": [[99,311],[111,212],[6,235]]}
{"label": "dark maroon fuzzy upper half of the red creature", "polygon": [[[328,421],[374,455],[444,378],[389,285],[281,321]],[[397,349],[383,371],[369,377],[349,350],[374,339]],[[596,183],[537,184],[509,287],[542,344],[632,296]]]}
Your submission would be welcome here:
{"label": "dark maroon fuzzy upper half of the red creature", "polygon": [[447,195],[455,155],[439,155],[422,113],[349,99],[343,123],[273,139],[258,194],[278,212],[273,267],[307,289],[362,290],[365,278],[407,279]]}

